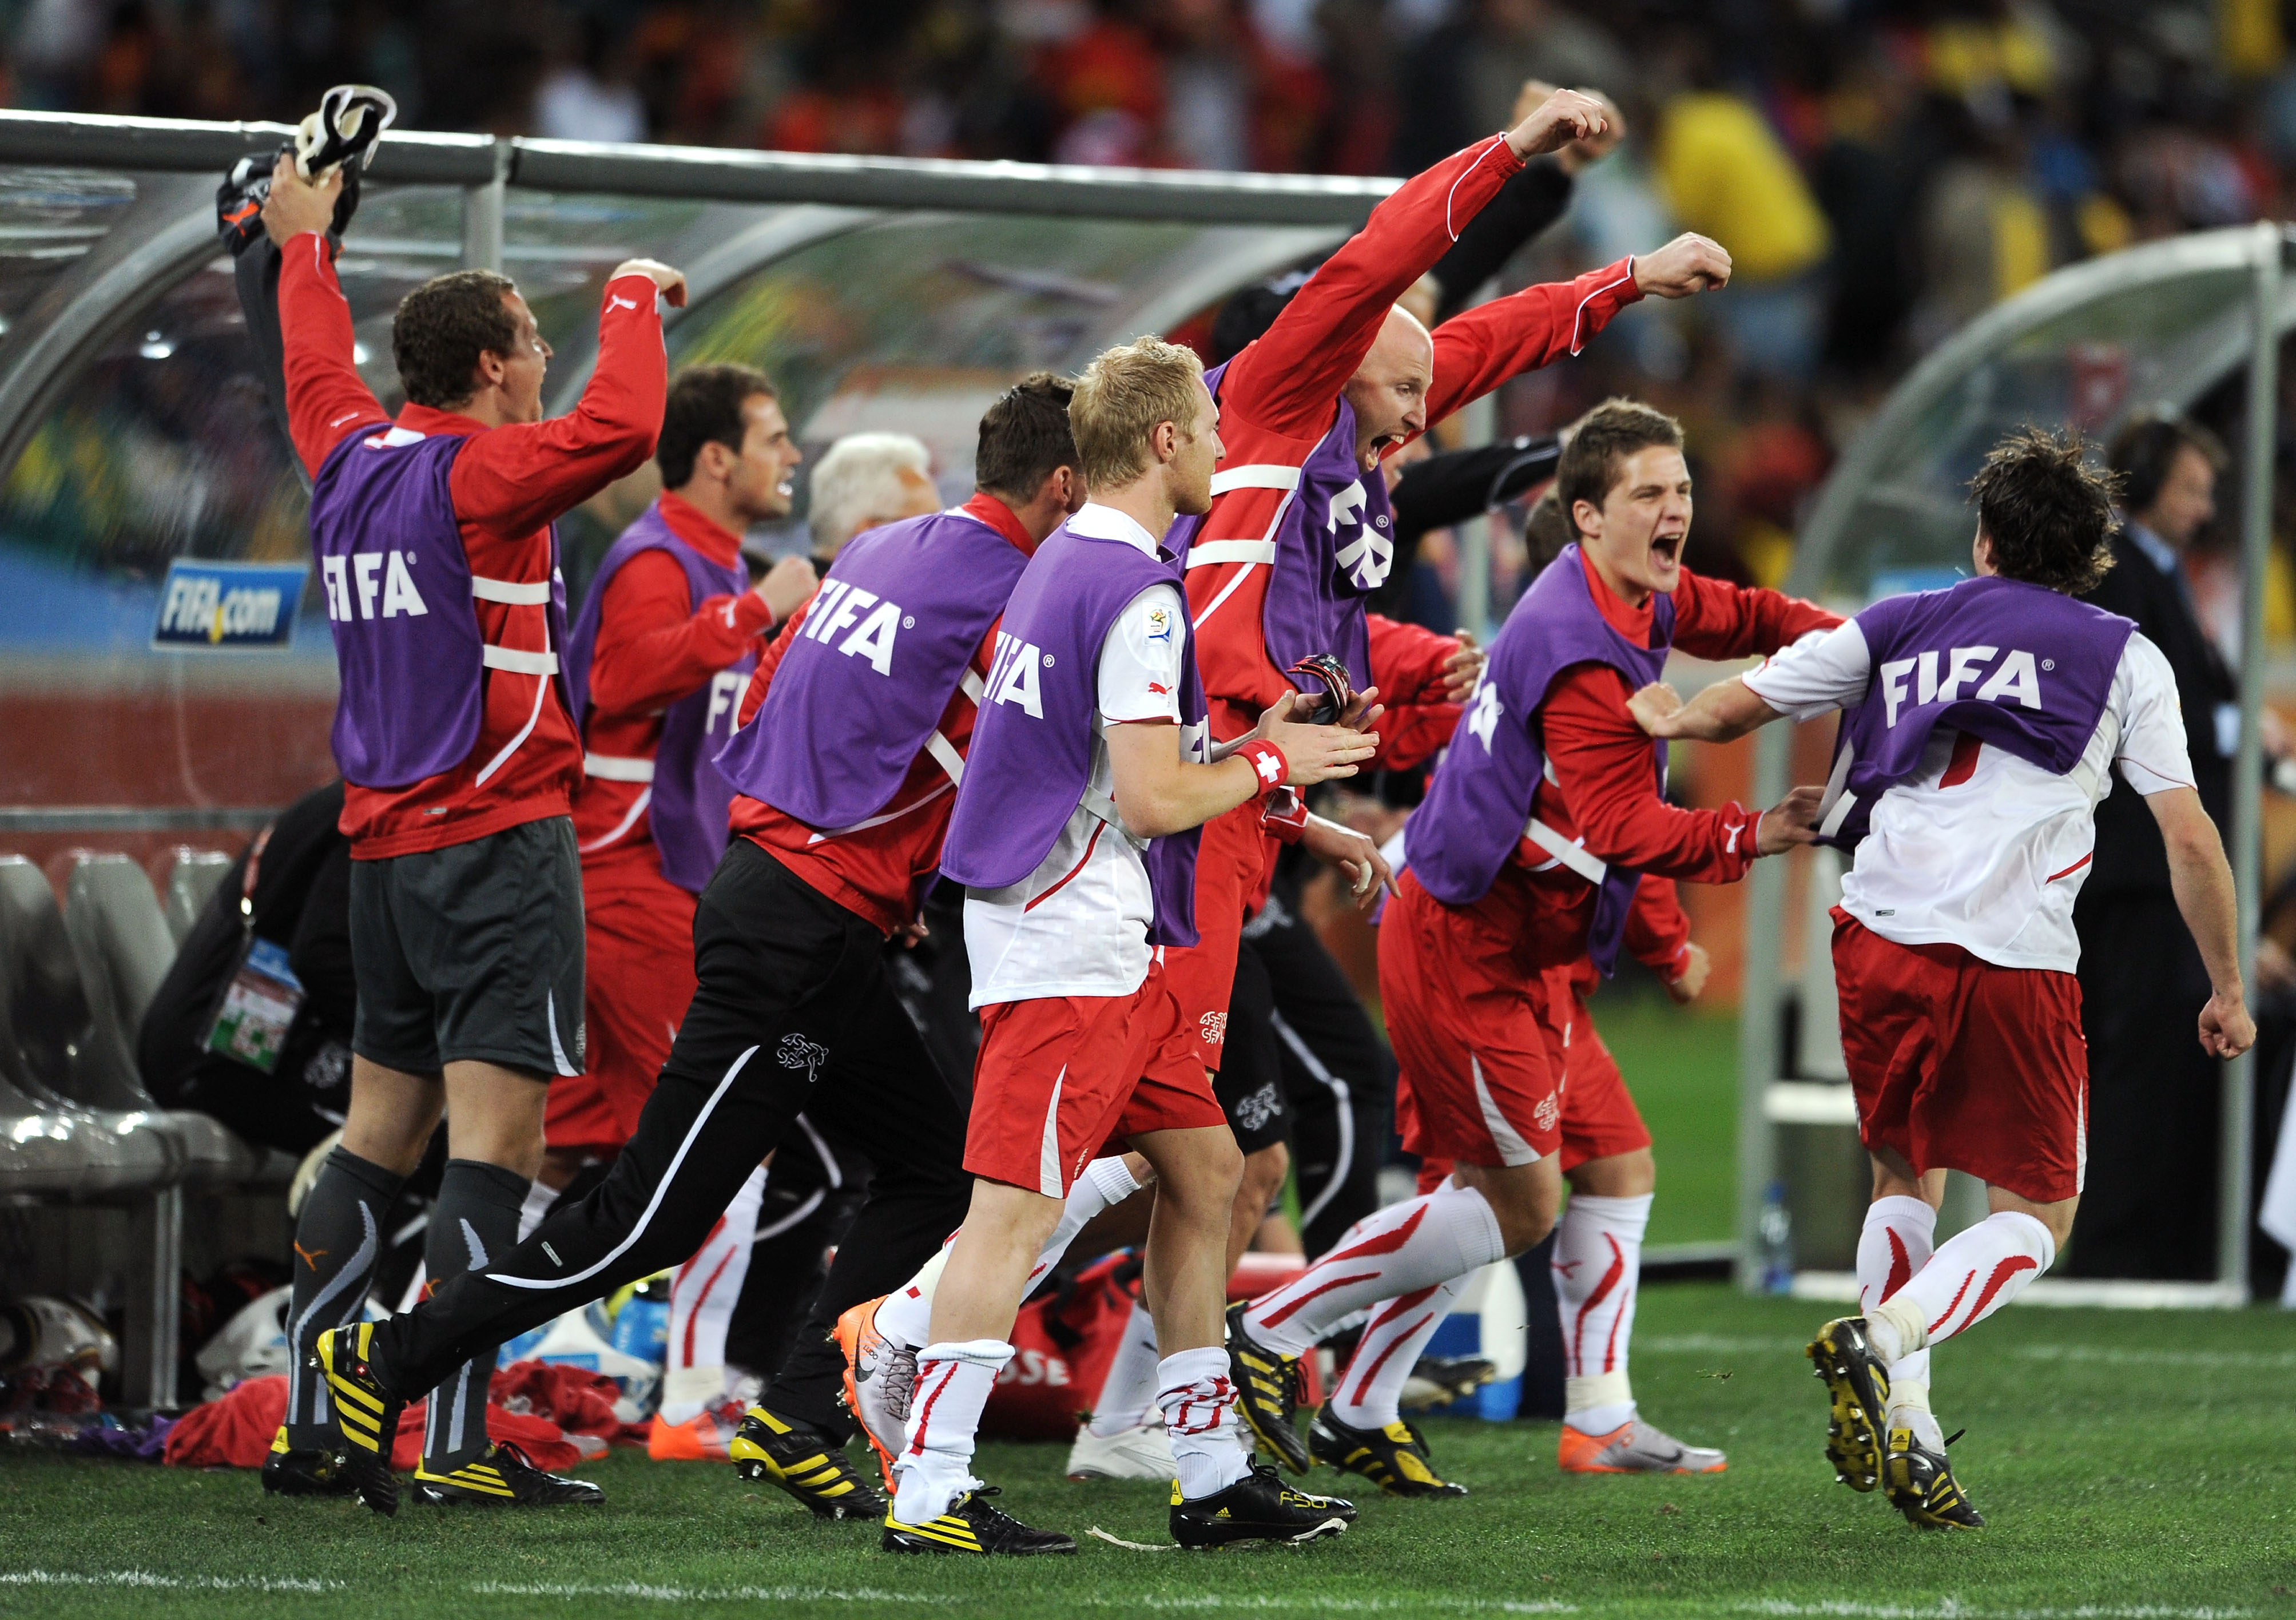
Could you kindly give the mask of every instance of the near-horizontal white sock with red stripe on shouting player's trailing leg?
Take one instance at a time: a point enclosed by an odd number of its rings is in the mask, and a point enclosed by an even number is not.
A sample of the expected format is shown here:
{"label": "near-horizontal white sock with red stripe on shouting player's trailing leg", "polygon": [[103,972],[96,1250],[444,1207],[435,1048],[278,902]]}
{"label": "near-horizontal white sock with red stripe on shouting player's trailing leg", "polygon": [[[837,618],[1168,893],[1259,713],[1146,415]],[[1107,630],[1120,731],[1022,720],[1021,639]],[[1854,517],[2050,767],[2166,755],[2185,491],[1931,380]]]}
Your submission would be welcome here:
{"label": "near-horizontal white sock with red stripe on shouting player's trailing leg", "polygon": [[1499,1216],[1472,1186],[1446,1182],[1350,1225],[1329,1255],[1254,1299],[1244,1324],[1267,1349],[1300,1356],[1350,1310],[1465,1278],[1497,1260],[1506,1260]]}

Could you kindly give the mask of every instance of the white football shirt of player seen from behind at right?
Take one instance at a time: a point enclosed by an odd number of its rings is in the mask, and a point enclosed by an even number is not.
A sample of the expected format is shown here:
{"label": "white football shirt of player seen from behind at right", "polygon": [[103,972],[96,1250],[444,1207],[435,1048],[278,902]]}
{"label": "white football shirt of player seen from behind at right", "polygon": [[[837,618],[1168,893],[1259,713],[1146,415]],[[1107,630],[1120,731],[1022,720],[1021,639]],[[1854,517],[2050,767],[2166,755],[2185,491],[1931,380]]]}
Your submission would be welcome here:
{"label": "white football shirt of player seen from behind at right", "polygon": [[[1867,695],[1871,654],[1851,620],[1745,675],[1773,709],[1809,721]],[[2138,794],[2193,785],[2177,677],[2131,633],[2096,734],[2064,776],[2002,748],[1954,762],[1961,732],[1931,732],[1922,764],[1876,803],[1841,909],[1901,945],[1952,943],[2004,968],[2080,966],[2073,897],[2096,847],[2110,771]],[[1954,782],[1947,787],[1945,778]]]}

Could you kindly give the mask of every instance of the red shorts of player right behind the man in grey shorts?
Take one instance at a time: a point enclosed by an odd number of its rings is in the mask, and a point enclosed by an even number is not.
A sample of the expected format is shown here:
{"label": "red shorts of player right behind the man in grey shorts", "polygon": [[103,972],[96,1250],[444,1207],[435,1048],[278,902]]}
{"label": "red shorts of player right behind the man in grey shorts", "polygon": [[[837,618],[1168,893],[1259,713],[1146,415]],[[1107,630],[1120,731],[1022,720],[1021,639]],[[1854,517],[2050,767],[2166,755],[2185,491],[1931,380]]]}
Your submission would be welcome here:
{"label": "red shorts of player right behind the man in grey shorts", "polygon": [[613,1152],[629,1140],[693,1000],[693,895],[659,870],[615,865],[608,883],[583,883],[585,1072],[551,1081],[551,1147]]}

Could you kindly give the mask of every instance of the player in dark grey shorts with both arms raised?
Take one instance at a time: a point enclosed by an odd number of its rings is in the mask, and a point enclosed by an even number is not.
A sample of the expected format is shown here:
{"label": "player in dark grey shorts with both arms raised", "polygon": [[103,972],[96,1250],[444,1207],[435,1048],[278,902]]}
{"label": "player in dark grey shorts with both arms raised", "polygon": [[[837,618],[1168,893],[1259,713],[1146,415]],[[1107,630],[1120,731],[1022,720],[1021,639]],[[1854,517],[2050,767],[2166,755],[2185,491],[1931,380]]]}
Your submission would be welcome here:
{"label": "player in dark grey shorts with both arms raised", "polygon": [[[425,1253],[434,1283],[517,1241],[549,1083],[581,1072],[569,817],[581,737],[560,682],[565,583],[551,523],[652,452],[666,383],[659,301],[684,298],[684,275],[664,264],[615,268],[597,372],[572,415],[544,422],[551,346],[519,289],[487,271],[441,275],[400,303],[393,358],[406,408],[393,420],[351,363],[351,310],[326,236],[340,193],[340,172],[310,184],[282,156],[262,207],[280,250],[287,415],[315,482],[312,544],[342,665],[333,741],[358,975],[349,1120],[296,1230],[287,1342],[298,1363],[321,1329],[358,1319],[379,1221],[441,1111],[448,1163]],[[418,1494],[599,1501],[595,1487],[489,1446],[496,1342],[471,1342],[409,1391],[439,1386]],[[328,1413],[331,1400],[296,1374],[266,1489],[340,1492],[331,1452],[344,1443],[390,1478],[393,1430]],[[331,1416],[344,1418],[340,1430]]]}

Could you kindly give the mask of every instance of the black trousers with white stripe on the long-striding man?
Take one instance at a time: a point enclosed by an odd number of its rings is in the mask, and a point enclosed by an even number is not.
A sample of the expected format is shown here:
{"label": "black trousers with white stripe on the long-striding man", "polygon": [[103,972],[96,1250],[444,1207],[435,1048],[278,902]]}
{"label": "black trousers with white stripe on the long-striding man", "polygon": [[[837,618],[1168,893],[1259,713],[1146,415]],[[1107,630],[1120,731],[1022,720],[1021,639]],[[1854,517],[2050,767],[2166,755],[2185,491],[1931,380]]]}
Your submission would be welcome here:
{"label": "black trousers with white stripe on the long-striding man", "polygon": [[377,1329],[383,1381],[420,1393],[475,1349],[687,1260],[751,1168],[806,1113],[863,1143],[868,1200],[765,1402],[833,1439],[838,1315],[932,1257],[971,1198],[967,1097],[925,1051],[884,936],[737,838],[693,913],[698,989],[606,1179],[482,1271]]}

